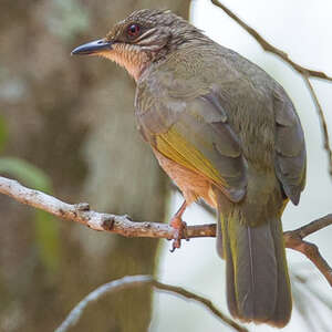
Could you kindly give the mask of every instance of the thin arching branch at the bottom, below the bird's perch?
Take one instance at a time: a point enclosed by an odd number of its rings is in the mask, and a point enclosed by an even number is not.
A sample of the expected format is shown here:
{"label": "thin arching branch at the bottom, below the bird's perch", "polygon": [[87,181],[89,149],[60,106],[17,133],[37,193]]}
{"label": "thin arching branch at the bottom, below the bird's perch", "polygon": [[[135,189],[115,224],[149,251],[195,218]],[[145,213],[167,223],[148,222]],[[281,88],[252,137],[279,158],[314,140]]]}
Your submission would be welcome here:
{"label": "thin arching branch at the bottom, below the bird's perch", "polygon": [[154,280],[152,276],[124,277],[122,279],[117,279],[98,287],[93,292],[91,292],[87,297],[85,297],[82,301],[80,301],[77,305],[75,305],[75,308],[69,313],[69,315],[63,321],[63,323],[55,330],[55,332],[65,332],[71,326],[73,326],[81,318],[83,310],[91,302],[94,302],[108,293],[120,291],[129,287],[141,286],[141,284],[151,284],[160,291],[170,292],[176,295],[184,297],[185,299],[194,300],[198,303],[201,303],[211,313],[214,313],[217,318],[219,318],[224,323],[234,328],[236,331],[248,332],[246,328],[237,324],[235,321],[232,321],[227,315],[225,315],[220,310],[218,310],[211,301],[203,297],[199,297],[190,291],[187,291],[184,288],[158,282]]}

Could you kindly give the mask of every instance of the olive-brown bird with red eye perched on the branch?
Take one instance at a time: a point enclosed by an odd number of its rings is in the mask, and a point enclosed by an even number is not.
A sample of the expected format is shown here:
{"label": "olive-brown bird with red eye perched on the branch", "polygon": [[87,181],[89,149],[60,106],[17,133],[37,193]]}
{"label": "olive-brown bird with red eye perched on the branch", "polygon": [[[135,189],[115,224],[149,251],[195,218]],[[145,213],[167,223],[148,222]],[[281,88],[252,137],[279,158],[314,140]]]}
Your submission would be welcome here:
{"label": "olive-brown bird with red eye perched on the branch", "polygon": [[217,210],[231,315],[284,326],[292,298],[281,216],[299,204],[307,153],[283,87],[169,10],[134,11],[72,54],[110,59],[135,80],[137,128],[184,196],[174,249],[186,207],[204,199]]}

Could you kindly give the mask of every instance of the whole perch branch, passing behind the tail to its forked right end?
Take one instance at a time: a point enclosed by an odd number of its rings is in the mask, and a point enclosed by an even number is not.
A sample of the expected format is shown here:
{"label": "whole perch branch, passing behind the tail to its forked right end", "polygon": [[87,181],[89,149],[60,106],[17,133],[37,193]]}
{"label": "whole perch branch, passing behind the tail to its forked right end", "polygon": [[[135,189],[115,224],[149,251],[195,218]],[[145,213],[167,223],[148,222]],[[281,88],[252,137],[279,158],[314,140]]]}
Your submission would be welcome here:
{"label": "whole perch branch, passing behind the tail to its forked right end", "polygon": [[[160,222],[133,221],[128,216],[116,216],[100,214],[90,210],[86,203],[66,204],[53,196],[39,190],[27,188],[12,180],[0,176],[0,193],[13,199],[50,212],[62,219],[83,224],[94,230],[115,232],[125,237],[148,237],[174,239],[175,230]],[[307,236],[324,227],[332,225],[332,214],[317,219],[299,229],[284,232],[284,245],[287,248],[300,251],[305,255],[322,272],[332,287],[332,269],[320,255],[315,245],[303,240]],[[216,237],[216,225],[196,225],[187,227],[187,238]]]}

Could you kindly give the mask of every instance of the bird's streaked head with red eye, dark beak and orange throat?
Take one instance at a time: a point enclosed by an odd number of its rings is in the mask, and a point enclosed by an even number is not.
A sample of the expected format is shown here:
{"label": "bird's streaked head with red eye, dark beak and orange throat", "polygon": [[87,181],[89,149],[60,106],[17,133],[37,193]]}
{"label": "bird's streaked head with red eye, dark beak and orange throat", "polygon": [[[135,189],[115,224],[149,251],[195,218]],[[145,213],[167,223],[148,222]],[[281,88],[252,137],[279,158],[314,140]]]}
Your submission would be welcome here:
{"label": "bird's streaked head with red eye, dark beak and orange throat", "polygon": [[198,29],[169,10],[143,9],[116,23],[105,38],[83,44],[72,54],[107,58],[137,81],[151,63],[201,37]]}

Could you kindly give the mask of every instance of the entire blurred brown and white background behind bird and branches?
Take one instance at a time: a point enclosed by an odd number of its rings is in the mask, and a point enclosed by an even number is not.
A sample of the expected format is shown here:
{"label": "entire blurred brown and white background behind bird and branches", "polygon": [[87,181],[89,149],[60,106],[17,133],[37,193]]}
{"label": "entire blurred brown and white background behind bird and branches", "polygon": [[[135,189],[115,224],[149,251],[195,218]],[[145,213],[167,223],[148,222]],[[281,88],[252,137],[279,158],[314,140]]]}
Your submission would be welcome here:
{"label": "entire blurred brown and white background behind bird and branches", "polygon": [[[224,3],[299,63],[332,74],[330,2]],[[133,80],[108,61],[70,56],[74,46],[105,35],[116,21],[141,8],[169,8],[190,18],[286,87],[304,127],[309,170],[301,205],[288,208],[284,228],[331,212],[331,178],[319,122],[301,77],[262,52],[208,0],[2,0],[0,174],[65,201],[89,201],[93,209],[128,214],[134,220],[164,220],[178,207],[179,195],[169,195],[168,179],[136,132]],[[314,81],[314,86],[332,127],[331,84]],[[52,331],[97,286],[136,273],[187,287],[227,310],[224,263],[212,239],[191,240],[170,255],[166,241],[158,246],[153,239],[95,232],[4,196],[0,211],[0,331]],[[197,207],[185,219],[214,222]],[[310,239],[332,263],[331,236],[326,229]],[[290,253],[289,261],[297,307],[284,331],[332,331],[332,294],[326,282],[300,255]],[[107,295],[89,307],[70,331],[185,329],[230,331],[203,308],[148,288]]]}

